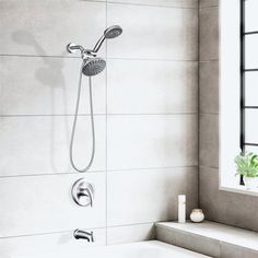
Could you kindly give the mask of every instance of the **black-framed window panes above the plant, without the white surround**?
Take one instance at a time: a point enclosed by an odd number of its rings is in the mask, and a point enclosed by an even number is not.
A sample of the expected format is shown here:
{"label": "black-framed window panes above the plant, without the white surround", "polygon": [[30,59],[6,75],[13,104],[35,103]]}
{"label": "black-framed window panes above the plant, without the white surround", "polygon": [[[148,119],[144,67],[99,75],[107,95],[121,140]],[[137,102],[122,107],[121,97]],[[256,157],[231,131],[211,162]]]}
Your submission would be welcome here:
{"label": "black-framed window panes above the plant, without the white surround", "polygon": [[241,0],[241,149],[258,153],[257,0]]}

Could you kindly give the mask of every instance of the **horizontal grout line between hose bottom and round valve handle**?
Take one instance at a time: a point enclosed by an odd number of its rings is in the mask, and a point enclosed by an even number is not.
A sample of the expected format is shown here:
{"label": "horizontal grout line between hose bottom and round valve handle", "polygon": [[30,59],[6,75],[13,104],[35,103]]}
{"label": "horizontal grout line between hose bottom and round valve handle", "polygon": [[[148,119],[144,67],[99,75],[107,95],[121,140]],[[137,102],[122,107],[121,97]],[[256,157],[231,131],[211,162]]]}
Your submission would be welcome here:
{"label": "horizontal grout line between hose bottom and round valve handle", "polygon": [[[198,165],[186,165],[186,166],[164,166],[164,167],[144,167],[144,168],[120,168],[120,169],[105,169],[105,171],[89,171],[86,175],[94,175],[95,173],[129,173],[129,172],[139,172],[139,171],[155,171],[155,169],[176,169],[176,168],[191,168],[197,167]],[[39,177],[39,176],[62,176],[62,175],[80,175],[75,172],[70,173],[42,173],[42,174],[23,174],[23,175],[9,175],[9,176],[0,176],[0,179],[4,178],[17,178],[17,177]]]}

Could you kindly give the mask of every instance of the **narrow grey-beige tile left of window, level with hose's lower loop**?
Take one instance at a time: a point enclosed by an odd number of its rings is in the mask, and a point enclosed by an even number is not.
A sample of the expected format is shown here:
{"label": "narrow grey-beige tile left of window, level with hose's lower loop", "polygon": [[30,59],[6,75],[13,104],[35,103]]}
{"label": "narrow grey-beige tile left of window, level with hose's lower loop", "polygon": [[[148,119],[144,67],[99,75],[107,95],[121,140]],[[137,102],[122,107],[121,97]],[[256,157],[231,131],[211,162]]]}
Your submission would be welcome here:
{"label": "narrow grey-beige tile left of window, level with hose's lower loop", "polygon": [[219,116],[201,115],[199,130],[200,165],[219,167]]}

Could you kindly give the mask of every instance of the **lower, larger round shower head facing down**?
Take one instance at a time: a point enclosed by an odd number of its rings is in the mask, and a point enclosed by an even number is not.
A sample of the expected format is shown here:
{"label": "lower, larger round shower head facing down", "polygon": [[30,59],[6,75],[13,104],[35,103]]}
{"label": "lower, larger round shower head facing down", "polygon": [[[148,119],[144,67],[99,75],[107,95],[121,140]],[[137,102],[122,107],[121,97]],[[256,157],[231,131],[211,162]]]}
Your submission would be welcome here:
{"label": "lower, larger round shower head facing down", "polygon": [[82,73],[86,77],[94,77],[106,67],[106,61],[102,58],[87,58],[83,61]]}

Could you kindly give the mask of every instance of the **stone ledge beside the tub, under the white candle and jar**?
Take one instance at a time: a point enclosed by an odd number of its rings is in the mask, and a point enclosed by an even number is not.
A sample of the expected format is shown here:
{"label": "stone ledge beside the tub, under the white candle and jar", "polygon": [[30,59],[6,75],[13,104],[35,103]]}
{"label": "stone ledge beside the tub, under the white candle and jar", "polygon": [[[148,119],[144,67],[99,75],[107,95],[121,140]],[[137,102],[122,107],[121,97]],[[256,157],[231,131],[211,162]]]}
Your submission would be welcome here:
{"label": "stone ledge beside the tub, under the white candle and jar", "polygon": [[210,221],[160,222],[156,223],[156,237],[212,257],[258,257],[258,233]]}

